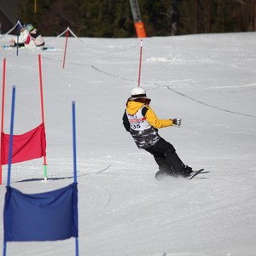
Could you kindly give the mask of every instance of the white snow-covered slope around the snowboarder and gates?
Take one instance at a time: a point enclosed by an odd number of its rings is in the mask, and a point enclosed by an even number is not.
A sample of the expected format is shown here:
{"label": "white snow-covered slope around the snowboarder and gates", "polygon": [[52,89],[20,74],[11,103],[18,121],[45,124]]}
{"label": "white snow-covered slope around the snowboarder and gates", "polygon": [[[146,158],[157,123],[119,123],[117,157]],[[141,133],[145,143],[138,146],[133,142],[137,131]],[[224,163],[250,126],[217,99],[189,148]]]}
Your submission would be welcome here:
{"label": "white snow-covered slope around the snowboarder and gates", "polygon": [[[7,36],[0,44],[9,44]],[[72,101],[76,102],[79,254],[82,256],[256,255],[256,33],[143,39],[141,86],[177,154],[205,173],[154,179],[153,156],[122,125],[137,86],[140,39],[45,38],[54,50],[1,49],[6,67],[4,132],[16,85],[14,134],[41,123],[42,55],[48,182],[43,159],[12,165],[11,186],[34,194],[73,182]],[[7,179],[3,166],[0,212]],[[1,217],[2,218],[2,217]],[[3,247],[3,221],[0,222]],[[40,232],[40,230],[38,230]],[[66,256],[75,242],[9,242],[7,255]]]}

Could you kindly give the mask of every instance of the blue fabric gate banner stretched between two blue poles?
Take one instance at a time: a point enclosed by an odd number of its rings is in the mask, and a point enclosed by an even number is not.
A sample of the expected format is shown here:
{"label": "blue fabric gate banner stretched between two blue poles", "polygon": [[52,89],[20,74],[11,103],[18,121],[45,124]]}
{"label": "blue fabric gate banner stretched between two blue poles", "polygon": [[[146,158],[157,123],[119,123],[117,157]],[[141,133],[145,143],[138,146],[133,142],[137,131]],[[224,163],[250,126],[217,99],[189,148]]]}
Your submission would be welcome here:
{"label": "blue fabric gate banner stretched between two blue poles", "polygon": [[79,236],[78,183],[39,194],[7,187],[4,241],[55,241]]}

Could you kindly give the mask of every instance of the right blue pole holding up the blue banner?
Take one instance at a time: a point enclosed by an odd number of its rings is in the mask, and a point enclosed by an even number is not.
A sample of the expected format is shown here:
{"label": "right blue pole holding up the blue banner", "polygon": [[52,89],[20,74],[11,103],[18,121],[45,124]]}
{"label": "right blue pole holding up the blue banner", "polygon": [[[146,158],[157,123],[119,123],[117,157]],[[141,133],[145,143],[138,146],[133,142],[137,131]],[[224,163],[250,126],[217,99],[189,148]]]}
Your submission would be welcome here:
{"label": "right blue pole holding up the blue banner", "polygon": [[[73,119],[73,182],[78,182],[77,177],[77,145],[76,145],[76,103],[72,102],[72,119]],[[79,237],[75,237],[76,256],[79,256]]]}

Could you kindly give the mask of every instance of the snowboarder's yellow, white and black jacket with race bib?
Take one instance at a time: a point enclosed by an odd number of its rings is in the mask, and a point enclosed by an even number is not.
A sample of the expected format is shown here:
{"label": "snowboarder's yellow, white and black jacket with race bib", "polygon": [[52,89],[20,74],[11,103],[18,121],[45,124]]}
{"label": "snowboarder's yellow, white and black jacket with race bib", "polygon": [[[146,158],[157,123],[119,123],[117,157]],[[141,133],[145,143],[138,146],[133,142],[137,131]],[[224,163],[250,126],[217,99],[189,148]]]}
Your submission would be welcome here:
{"label": "snowboarder's yellow, white and black jacket with race bib", "polygon": [[172,126],[172,119],[158,119],[148,105],[142,102],[128,102],[123,125],[125,130],[131,133],[137,147],[146,149],[159,141],[158,129]]}

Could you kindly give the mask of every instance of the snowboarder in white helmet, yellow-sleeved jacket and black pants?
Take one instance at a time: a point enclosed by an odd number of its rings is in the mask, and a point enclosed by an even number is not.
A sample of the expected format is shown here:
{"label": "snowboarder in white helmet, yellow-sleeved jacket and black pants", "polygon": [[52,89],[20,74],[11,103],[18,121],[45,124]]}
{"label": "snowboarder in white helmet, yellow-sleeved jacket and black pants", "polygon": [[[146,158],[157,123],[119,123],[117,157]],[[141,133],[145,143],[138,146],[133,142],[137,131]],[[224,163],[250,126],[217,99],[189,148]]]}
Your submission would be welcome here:
{"label": "snowboarder in white helmet, yellow-sleeved jacket and black pants", "polygon": [[155,178],[164,176],[189,177],[192,168],[185,166],[177,156],[175,148],[158,134],[159,128],[181,125],[181,119],[158,119],[149,107],[149,99],[143,87],[131,90],[131,97],[126,102],[123,116],[125,130],[131,133],[138,148],[143,148],[154,155],[154,160],[159,166]]}

